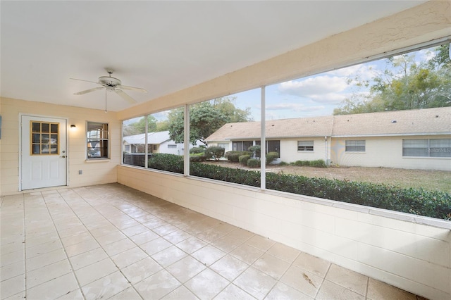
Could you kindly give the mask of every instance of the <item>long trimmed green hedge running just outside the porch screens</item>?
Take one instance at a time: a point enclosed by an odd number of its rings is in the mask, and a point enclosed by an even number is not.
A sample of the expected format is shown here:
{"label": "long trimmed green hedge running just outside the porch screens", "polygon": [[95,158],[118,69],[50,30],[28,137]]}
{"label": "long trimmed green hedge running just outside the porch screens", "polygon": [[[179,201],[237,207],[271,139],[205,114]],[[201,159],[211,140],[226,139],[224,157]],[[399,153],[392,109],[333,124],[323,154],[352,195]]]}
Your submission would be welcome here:
{"label": "long trimmed green hedge running just outside the porch screens", "polygon": [[[183,156],[154,154],[149,167],[183,173]],[[190,163],[190,174],[226,182],[260,187],[260,172],[225,168],[204,163]],[[293,194],[360,204],[391,211],[425,215],[431,218],[451,218],[451,195],[424,189],[403,189],[368,182],[348,182],[326,178],[266,173],[266,188]]]}

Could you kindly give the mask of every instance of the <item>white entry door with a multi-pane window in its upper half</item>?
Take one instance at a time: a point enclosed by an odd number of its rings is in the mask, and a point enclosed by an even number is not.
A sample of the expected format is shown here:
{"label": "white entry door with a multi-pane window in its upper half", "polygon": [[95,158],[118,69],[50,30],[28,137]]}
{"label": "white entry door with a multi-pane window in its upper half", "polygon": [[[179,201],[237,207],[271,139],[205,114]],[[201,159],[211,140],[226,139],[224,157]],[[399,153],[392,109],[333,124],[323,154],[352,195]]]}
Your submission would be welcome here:
{"label": "white entry door with a multi-pane window in its upper half", "polygon": [[67,185],[67,121],[22,115],[20,189]]}

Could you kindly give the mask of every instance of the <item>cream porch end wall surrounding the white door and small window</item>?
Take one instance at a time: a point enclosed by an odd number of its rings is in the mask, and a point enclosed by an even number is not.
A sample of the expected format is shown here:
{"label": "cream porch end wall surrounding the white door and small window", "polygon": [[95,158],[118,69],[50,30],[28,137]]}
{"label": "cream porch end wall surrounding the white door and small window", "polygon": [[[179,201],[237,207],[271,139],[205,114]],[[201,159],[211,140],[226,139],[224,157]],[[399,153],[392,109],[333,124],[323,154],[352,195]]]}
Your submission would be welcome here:
{"label": "cream porch end wall surrounding the white door and small window", "polygon": [[[0,194],[16,194],[19,187],[19,114],[67,118],[68,127],[68,186],[80,187],[117,181],[116,166],[121,163],[121,122],[116,113],[60,106],[34,101],[1,98],[1,180]],[[109,124],[110,159],[86,160],[86,121]],[[82,175],[78,175],[82,170]]]}

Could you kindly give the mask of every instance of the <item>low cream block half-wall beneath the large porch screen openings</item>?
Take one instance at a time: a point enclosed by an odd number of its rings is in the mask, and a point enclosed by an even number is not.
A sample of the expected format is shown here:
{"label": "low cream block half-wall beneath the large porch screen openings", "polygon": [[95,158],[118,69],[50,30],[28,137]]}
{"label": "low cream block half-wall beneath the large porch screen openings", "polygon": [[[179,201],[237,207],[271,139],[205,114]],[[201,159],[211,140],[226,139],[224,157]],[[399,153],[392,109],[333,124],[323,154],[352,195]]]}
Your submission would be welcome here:
{"label": "low cream block half-wall beneath the large porch screen openings", "polygon": [[451,298],[447,221],[124,165],[118,182],[428,299]]}

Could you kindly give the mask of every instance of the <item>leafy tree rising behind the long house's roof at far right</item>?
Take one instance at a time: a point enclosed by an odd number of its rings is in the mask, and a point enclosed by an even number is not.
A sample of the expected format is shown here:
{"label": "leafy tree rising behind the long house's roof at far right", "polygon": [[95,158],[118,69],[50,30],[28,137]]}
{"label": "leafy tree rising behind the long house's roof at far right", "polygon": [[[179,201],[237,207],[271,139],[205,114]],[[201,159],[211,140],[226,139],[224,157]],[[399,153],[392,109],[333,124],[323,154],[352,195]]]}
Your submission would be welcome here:
{"label": "leafy tree rising behind the long house's roof at far right", "polygon": [[393,56],[386,59],[385,70],[371,80],[349,80],[358,87],[369,87],[369,94],[352,94],[334,114],[451,106],[449,47],[444,44],[428,51],[431,58],[421,62],[415,54]]}

